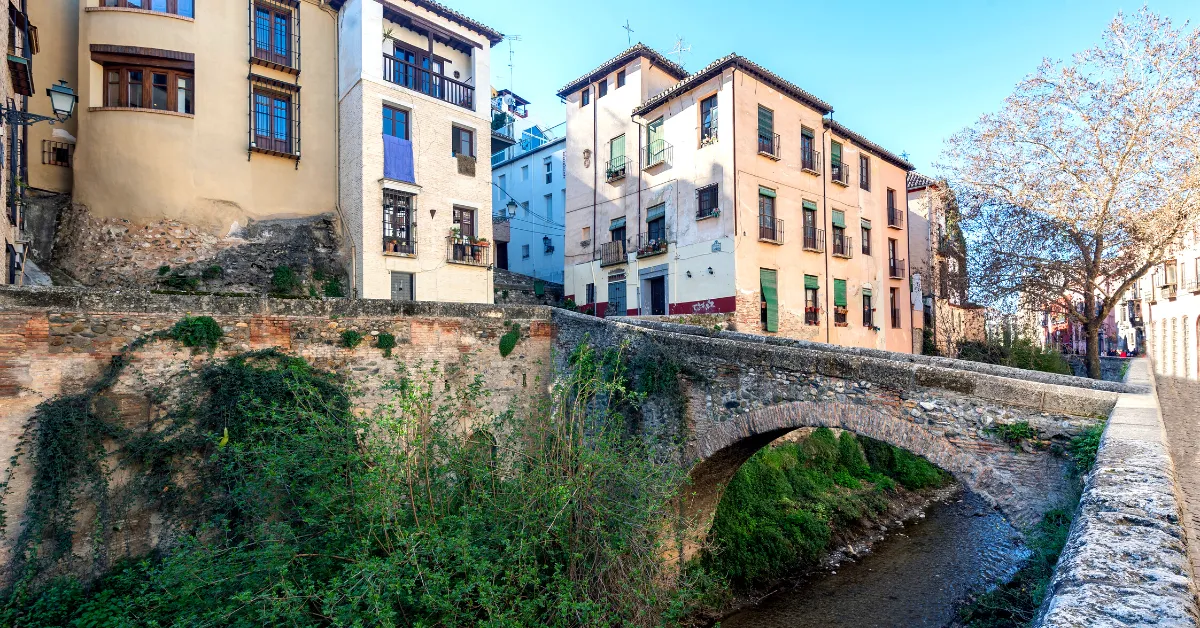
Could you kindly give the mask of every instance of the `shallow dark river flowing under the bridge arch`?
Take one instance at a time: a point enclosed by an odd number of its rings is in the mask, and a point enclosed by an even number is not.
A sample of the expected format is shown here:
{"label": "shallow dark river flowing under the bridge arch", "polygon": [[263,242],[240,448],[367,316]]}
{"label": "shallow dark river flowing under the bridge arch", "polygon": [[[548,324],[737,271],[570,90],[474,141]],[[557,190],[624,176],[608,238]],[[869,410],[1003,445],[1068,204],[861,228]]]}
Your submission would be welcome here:
{"label": "shallow dark river flowing under the bridge arch", "polygon": [[1015,528],[972,492],[925,510],[872,551],[818,572],[721,621],[721,628],[946,627],[970,593],[1026,556]]}

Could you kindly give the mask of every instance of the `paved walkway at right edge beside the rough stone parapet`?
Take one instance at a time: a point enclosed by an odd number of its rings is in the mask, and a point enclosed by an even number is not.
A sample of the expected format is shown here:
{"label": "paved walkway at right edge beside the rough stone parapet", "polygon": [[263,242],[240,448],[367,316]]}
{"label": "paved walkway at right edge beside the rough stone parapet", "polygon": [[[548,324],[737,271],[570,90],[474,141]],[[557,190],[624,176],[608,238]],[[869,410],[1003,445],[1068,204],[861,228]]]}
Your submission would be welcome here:
{"label": "paved walkway at right edge beside the rough stone parapet", "polygon": [[1154,376],[1175,476],[1187,504],[1193,573],[1200,574],[1200,382]]}

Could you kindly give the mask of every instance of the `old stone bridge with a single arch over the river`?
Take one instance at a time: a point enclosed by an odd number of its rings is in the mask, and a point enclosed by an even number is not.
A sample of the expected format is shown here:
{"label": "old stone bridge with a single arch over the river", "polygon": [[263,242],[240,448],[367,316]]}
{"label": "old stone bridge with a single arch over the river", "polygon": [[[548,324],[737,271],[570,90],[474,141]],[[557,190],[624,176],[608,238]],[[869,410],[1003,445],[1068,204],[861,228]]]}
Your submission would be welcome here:
{"label": "old stone bridge with a single arch over the river", "polygon": [[1127,388],[664,322],[556,311],[554,323],[559,355],[582,341],[625,345],[652,363],[670,359],[682,367],[683,415],[652,403],[643,408],[643,429],[685,430],[691,486],[684,513],[692,540],[707,533],[725,485],[755,451],[792,430],[821,426],[920,455],[1014,524],[1033,524],[1066,497],[1067,460],[1052,447],[1014,447],[995,427],[1025,421],[1040,439],[1066,444],[1106,418]]}

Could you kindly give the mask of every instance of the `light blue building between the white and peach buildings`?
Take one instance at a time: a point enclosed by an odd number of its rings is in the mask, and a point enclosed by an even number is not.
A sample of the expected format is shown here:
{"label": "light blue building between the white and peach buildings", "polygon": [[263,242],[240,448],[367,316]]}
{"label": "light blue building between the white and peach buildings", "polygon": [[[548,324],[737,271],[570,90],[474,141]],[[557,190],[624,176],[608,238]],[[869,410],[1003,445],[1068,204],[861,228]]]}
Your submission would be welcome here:
{"label": "light blue building between the white and peach buildings", "polygon": [[492,155],[497,267],[563,282],[566,124],[529,125]]}

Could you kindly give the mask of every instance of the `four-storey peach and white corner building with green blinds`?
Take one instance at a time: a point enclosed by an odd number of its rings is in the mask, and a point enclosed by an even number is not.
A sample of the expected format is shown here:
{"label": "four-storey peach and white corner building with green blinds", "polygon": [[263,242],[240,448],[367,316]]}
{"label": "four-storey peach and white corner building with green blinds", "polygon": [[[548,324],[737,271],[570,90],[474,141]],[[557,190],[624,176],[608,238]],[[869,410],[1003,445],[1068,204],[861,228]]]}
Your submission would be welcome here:
{"label": "four-storey peach and white corner building with green blinds", "polygon": [[584,311],[912,351],[912,166],[829,104],[738,55],[686,74],[642,44],[559,96]]}

